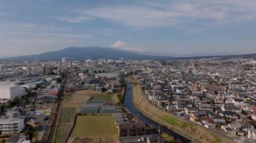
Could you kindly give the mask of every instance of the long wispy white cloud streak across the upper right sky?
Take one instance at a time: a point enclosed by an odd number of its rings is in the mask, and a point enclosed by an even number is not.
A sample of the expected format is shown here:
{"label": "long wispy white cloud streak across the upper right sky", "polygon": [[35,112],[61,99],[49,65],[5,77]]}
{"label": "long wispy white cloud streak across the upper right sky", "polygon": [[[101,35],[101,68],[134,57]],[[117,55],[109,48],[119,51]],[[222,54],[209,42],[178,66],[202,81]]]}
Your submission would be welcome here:
{"label": "long wispy white cloud streak across the upper right sky", "polygon": [[176,27],[189,23],[198,26],[223,25],[256,18],[255,0],[185,0],[159,4],[144,1],[139,5],[108,5],[94,9],[73,10],[69,22],[106,19],[135,28]]}

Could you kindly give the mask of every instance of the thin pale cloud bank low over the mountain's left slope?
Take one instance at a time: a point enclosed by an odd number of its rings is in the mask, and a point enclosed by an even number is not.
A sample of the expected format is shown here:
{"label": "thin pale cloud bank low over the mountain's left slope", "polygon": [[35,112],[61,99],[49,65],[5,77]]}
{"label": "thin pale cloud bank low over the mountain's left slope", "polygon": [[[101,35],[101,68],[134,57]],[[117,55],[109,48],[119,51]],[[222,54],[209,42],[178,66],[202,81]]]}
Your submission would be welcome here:
{"label": "thin pale cloud bank low over the mountain's left slope", "polygon": [[34,23],[0,24],[0,31],[1,54],[11,51],[35,54],[67,46],[85,46],[93,38],[90,34],[74,33],[75,30],[71,27]]}

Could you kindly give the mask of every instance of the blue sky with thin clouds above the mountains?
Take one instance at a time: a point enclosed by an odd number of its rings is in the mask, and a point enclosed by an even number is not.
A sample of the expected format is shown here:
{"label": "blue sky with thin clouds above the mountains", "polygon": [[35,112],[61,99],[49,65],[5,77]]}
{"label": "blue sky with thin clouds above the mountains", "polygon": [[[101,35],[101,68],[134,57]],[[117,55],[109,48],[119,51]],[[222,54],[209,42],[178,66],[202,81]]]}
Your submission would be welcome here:
{"label": "blue sky with thin clouds above the mountains", "polygon": [[70,46],[256,53],[256,1],[0,0],[0,57]]}

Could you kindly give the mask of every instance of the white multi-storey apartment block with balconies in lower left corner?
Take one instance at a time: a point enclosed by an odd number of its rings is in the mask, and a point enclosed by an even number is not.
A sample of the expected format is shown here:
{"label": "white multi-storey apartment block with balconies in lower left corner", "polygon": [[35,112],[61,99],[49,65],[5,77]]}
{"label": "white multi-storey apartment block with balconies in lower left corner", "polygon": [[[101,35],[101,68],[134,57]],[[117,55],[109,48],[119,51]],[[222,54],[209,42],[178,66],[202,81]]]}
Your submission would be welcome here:
{"label": "white multi-storey apartment block with balconies in lower left corner", "polygon": [[11,118],[0,119],[0,132],[1,134],[15,134],[24,130],[24,119]]}

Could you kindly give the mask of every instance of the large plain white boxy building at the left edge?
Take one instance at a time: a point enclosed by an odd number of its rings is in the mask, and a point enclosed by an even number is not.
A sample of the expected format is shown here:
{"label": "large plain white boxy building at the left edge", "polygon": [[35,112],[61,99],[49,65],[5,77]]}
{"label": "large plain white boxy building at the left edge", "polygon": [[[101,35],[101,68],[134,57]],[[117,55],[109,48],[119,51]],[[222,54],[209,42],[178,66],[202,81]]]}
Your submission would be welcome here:
{"label": "large plain white boxy building at the left edge", "polygon": [[23,95],[25,95],[25,89],[20,85],[0,83],[0,103],[6,103],[10,99]]}

